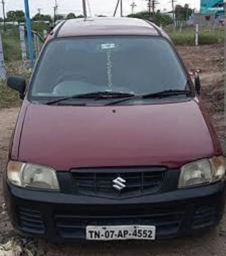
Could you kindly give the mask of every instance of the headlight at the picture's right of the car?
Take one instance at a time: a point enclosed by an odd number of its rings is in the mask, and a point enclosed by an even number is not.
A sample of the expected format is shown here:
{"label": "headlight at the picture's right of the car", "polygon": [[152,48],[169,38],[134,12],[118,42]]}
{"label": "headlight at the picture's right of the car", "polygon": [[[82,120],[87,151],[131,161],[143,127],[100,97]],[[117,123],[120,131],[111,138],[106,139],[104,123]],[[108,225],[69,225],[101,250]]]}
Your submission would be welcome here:
{"label": "headlight at the picture's right of the car", "polygon": [[185,164],[185,166],[181,168],[178,188],[213,183],[224,177],[225,160],[223,156],[202,159]]}

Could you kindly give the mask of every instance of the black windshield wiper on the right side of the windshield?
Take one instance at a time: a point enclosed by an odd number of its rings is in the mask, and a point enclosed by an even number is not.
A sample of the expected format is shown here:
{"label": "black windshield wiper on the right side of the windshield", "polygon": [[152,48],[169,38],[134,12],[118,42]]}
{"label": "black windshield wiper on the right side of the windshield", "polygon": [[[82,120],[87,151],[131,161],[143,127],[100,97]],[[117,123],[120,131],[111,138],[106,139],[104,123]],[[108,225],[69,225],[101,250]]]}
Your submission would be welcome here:
{"label": "black windshield wiper on the right side of the windshield", "polygon": [[128,98],[123,98],[122,100],[118,101],[113,101],[105,106],[111,106],[111,105],[116,105],[120,102],[128,101],[128,100],[139,100],[139,99],[145,99],[145,98],[162,98],[162,97],[170,97],[170,96],[175,96],[175,95],[186,95],[190,96],[191,91],[190,90],[162,90],[161,92],[156,92],[156,93],[147,93],[147,94],[140,94],[140,95],[135,95],[132,97]]}

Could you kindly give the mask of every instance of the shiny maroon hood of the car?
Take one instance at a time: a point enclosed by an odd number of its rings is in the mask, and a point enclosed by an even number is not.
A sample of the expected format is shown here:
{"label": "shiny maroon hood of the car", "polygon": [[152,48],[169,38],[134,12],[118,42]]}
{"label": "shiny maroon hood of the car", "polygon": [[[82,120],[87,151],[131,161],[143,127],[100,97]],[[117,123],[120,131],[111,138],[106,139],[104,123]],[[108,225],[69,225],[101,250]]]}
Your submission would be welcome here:
{"label": "shiny maroon hood of the car", "polygon": [[56,170],[168,166],[214,155],[196,101],[130,106],[28,105],[19,160]]}

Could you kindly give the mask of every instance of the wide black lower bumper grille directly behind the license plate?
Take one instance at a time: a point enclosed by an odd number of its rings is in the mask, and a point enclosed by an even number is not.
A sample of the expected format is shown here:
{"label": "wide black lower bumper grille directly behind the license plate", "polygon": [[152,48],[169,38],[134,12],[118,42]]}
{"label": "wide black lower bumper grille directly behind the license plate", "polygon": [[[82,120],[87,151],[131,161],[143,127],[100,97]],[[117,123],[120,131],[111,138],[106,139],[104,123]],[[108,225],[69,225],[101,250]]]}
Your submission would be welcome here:
{"label": "wide black lower bumper grille directly behind the license plate", "polygon": [[56,213],[58,234],[64,238],[86,237],[89,225],[154,225],[157,238],[174,236],[179,232],[183,212],[145,214],[140,216],[78,216],[73,212]]}

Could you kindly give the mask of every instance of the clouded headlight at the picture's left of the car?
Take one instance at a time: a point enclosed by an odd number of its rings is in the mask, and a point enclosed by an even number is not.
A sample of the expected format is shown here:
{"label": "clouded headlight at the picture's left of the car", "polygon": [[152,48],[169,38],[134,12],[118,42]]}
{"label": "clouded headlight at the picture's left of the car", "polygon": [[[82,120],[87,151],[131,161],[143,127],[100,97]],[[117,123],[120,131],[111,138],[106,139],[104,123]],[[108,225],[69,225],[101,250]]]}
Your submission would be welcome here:
{"label": "clouded headlight at the picture's left of the car", "polygon": [[37,164],[10,161],[7,166],[7,178],[19,187],[59,190],[56,171]]}

